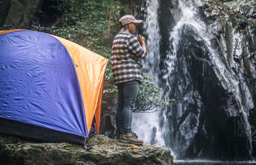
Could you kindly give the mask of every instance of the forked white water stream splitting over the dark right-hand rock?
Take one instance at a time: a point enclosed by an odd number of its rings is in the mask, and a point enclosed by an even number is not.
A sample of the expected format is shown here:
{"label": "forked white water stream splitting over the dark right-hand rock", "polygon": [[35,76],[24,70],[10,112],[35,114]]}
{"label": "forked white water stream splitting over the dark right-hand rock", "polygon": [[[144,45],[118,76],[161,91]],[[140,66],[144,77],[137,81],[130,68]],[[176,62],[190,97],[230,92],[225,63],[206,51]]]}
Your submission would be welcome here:
{"label": "forked white water stream splitting over the dark right-hand rock", "polygon": [[[205,43],[205,45],[207,46],[207,49],[209,49],[210,54],[213,57],[211,60],[211,63],[212,63],[212,65],[217,66],[214,68],[216,69],[215,72],[218,73],[217,76],[219,76],[218,78],[221,80],[222,86],[225,87],[225,90],[229,91],[230,93],[235,94],[236,101],[241,106],[241,113],[243,114],[244,122],[246,123],[246,125],[244,125],[244,127],[245,127],[244,129],[246,130],[246,134],[247,134],[248,140],[250,142],[250,155],[252,155],[252,132],[251,132],[250,123],[248,122],[248,112],[246,111],[246,109],[243,108],[243,106],[241,104],[242,96],[239,91],[239,81],[236,79],[236,75],[234,75],[234,72],[232,72],[231,69],[230,70],[226,69],[225,64],[220,59],[220,54],[218,54],[218,52],[216,52],[216,50],[213,49],[210,38],[214,38],[214,36],[212,36],[212,34],[208,31],[209,29],[204,24],[204,22],[202,20],[200,20],[198,17],[196,17],[196,15],[199,15],[199,14],[198,14],[198,11],[196,11],[196,9],[197,9],[196,6],[193,5],[195,3],[196,2],[191,1],[191,0],[179,0],[179,8],[181,10],[181,15],[180,15],[179,21],[174,26],[173,31],[170,35],[170,42],[172,42],[173,50],[169,54],[168,58],[166,58],[166,64],[168,66],[168,73],[166,73],[166,75],[164,75],[163,78],[165,78],[167,80],[168,77],[173,72],[173,68],[174,68],[173,66],[175,65],[175,59],[177,58],[177,49],[178,49],[178,46],[179,46],[178,44],[179,44],[179,40],[180,40],[180,30],[184,25],[189,25],[190,27],[192,27],[194,29],[194,31],[198,35],[196,39],[198,41],[202,40]],[[234,34],[234,31],[232,31],[232,34]],[[234,35],[232,39],[234,42],[241,42],[241,37],[239,37],[239,36]],[[232,44],[232,47],[235,47],[234,42]],[[236,54],[239,54],[241,56],[241,54],[242,54],[241,47],[234,49],[234,50],[236,50]],[[231,63],[231,65],[232,65],[232,63]],[[230,68],[231,67],[232,66],[230,66]],[[170,86],[170,84],[168,84],[168,80],[166,81],[166,86]],[[172,87],[170,87],[170,88],[172,88]],[[168,98],[170,91],[171,91],[171,89],[169,89],[169,91],[166,92],[166,95],[164,96],[164,98]],[[248,91],[248,89],[245,88],[245,91]],[[250,95],[249,92],[246,92],[246,94],[247,94],[246,100],[248,100],[248,104],[250,104],[250,103],[252,104],[252,96]],[[247,107],[252,108],[252,105],[247,105]],[[182,109],[178,109],[178,111],[182,111]],[[230,113],[232,113],[232,112],[230,112]],[[198,124],[198,122],[199,121],[197,121],[197,124]],[[167,127],[170,127],[170,126],[167,126]],[[183,133],[183,132],[181,132],[181,133]],[[189,136],[189,134],[187,134],[187,133],[188,132],[186,132],[186,131],[184,132],[184,137],[187,139],[186,141],[188,142],[186,144],[186,146],[189,145],[189,138],[194,137],[196,130],[190,133],[190,134],[193,134],[191,136]]]}

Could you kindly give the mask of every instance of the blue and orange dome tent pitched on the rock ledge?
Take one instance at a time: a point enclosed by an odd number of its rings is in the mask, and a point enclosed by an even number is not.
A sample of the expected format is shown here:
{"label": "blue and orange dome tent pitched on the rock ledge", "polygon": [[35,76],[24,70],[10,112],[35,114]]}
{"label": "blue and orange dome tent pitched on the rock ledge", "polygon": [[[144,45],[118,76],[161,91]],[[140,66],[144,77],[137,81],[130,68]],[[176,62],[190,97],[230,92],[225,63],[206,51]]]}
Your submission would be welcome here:
{"label": "blue and orange dome tent pitched on the rock ledge", "polygon": [[107,63],[58,36],[0,31],[0,133],[84,145],[99,133]]}

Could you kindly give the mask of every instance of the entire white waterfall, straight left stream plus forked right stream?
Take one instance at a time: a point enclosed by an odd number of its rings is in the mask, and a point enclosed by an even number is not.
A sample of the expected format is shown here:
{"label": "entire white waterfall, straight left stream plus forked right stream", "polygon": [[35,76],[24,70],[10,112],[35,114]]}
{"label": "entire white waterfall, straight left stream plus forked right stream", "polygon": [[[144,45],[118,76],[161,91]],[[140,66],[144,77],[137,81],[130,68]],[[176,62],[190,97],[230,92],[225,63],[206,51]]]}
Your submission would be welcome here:
{"label": "entire white waterfall, straight left stream plus forked right stream", "polygon": [[[193,29],[195,32],[195,38],[198,42],[204,43],[205,47],[202,49],[206,49],[208,54],[211,54],[210,60],[202,58],[204,61],[202,75],[205,72],[205,65],[209,63],[209,65],[214,65],[214,72],[216,72],[218,79],[220,79],[221,85],[227,90],[229,93],[234,93],[235,100],[239,107],[241,107],[239,112],[231,111],[232,108],[227,109],[230,113],[230,116],[237,116],[239,114],[243,115],[244,120],[244,130],[246,130],[246,136],[249,141],[249,154],[252,158],[252,132],[250,123],[248,122],[248,111],[246,109],[250,109],[253,107],[252,105],[252,96],[246,84],[239,84],[239,81],[236,79],[234,72],[232,71],[232,67],[236,67],[236,63],[232,60],[228,59],[227,53],[223,52],[225,59],[229,62],[228,65],[223,62],[223,59],[220,57],[220,52],[214,49],[214,45],[212,45],[211,38],[214,38],[214,35],[209,31],[214,27],[207,27],[198,17],[198,8],[196,7],[196,3],[198,1],[193,0],[179,0],[179,8],[177,10],[176,15],[174,15],[175,23],[173,28],[170,28],[170,47],[167,49],[165,53],[165,59],[162,63],[164,65],[164,70],[159,70],[161,68],[161,54],[160,54],[160,43],[161,43],[161,35],[159,33],[159,1],[156,0],[148,0],[145,1],[145,5],[141,8],[145,12],[145,23],[143,24],[145,36],[147,36],[147,59],[143,61],[143,72],[155,77],[156,83],[158,83],[161,88],[164,90],[163,98],[170,98],[172,93],[172,81],[175,81],[175,67],[177,65],[177,56],[179,50],[180,40],[182,39],[182,29],[186,26],[190,29]],[[171,3],[171,1],[170,1]],[[179,12],[178,12],[179,11]],[[232,36],[232,47],[235,47],[235,42],[241,42],[241,36],[236,35],[236,33]],[[225,43],[225,40],[222,38],[221,42]],[[220,43],[221,44],[221,43]],[[223,44],[225,45],[225,44]],[[237,44],[236,44],[237,45]],[[226,47],[227,49],[227,47]],[[242,48],[238,47],[235,49],[236,54],[241,54]],[[224,50],[225,51],[225,50]],[[227,50],[226,50],[227,51]],[[184,68],[186,70],[186,68]],[[177,72],[177,71],[176,71]],[[203,76],[204,77],[204,76]],[[245,99],[248,100],[246,105],[241,102],[241,92],[239,85],[243,86]],[[182,91],[182,87],[178,87],[180,93]],[[193,100],[189,100],[192,97],[201,98],[198,91],[194,91],[194,93],[188,93],[183,98],[183,100],[177,100],[177,109],[170,111],[166,111],[166,109],[157,109],[161,110],[161,112],[157,111],[156,113],[136,113],[134,114],[134,120],[132,123],[132,128],[138,133],[139,138],[143,139],[145,143],[152,143],[159,146],[168,146],[172,152],[174,159],[180,157],[180,155],[185,155],[188,146],[191,143],[191,140],[195,138],[195,134],[198,132],[198,123],[199,123],[199,115],[200,110],[202,109],[202,102],[198,99],[196,102]],[[182,114],[186,113],[186,109],[184,109],[182,105],[182,101],[190,102],[191,104],[196,104],[198,106],[197,111],[194,114],[189,114],[183,123],[179,127],[179,136],[172,136],[175,134],[172,125],[174,121],[168,121],[167,116],[172,116],[172,118],[180,118]],[[173,114],[173,111],[177,111]],[[189,116],[191,118],[189,118]],[[189,125],[191,120],[195,120],[193,125]],[[167,122],[168,121],[168,122]],[[171,134],[171,135],[170,135]],[[200,155],[200,153],[199,153]]]}

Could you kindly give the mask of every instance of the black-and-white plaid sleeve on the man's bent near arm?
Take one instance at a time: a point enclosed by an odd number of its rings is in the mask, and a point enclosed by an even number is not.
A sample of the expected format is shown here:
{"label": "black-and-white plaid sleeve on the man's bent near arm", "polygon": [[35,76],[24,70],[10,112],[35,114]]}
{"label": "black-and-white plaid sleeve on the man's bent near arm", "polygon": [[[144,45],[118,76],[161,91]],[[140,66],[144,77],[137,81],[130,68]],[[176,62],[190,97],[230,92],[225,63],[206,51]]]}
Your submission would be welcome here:
{"label": "black-and-white plaid sleeve on the man's bent near arm", "polygon": [[127,40],[127,48],[132,52],[137,58],[144,58],[145,50],[141,47],[138,38],[131,35]]}

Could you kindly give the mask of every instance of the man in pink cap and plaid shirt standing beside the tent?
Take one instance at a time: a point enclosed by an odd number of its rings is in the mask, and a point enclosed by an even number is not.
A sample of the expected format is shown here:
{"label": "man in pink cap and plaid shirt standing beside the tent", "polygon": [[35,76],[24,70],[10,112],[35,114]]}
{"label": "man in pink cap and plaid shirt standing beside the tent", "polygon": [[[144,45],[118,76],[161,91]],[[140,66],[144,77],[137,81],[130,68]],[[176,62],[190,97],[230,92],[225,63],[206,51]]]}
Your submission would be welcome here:
{"label": "man in pink cap and plaid shirt standing beside the tent", "polygon": [[116,110],[117,139],[123,143],[142,145],[131,130],[132,109],[138,95],[142,77],[137,64],[139,58],[145,58],[147,48],[143,36],[134,36],[136,20],[132,15],[125,15],[119,20],[122,29],[115,36],[112,46],[112,72],[114,83],[118,88],[118,106]]}

